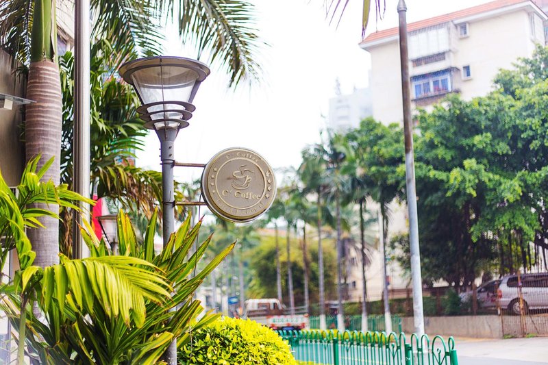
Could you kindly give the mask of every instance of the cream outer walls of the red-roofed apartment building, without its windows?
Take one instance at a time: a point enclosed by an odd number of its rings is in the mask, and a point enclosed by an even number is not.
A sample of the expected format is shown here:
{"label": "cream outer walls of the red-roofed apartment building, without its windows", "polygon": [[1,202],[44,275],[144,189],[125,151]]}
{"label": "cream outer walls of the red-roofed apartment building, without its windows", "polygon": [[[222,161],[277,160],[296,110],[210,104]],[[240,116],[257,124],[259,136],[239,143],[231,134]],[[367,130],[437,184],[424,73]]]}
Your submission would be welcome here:
{"label": "cream outer walls of the red-roofed apartment building, without its windows", "polygon": [[[462,72],[462,66],[470,65],[471,79],[458,81],[457,87],[461,89],[463,99],[472,99],[486,95],[493,89],[493,78],[500,68],[511,68],[517,58],[529,57],[534,50],[535,41],[530,30],[529,12],[526,9],[505,12],[468,23],[468,37],[451,36],[453,44],[445,61],[417,68],[410,64],[410,75],[439,71],[450,66],[459,68]],[[453,29],[452,33],[456,34],[456,30]],[[401,122],[403,112],[399,43],[392,40],[381,45],[369,46],[367,51],[371,54],[373,118],[386,124]]]}

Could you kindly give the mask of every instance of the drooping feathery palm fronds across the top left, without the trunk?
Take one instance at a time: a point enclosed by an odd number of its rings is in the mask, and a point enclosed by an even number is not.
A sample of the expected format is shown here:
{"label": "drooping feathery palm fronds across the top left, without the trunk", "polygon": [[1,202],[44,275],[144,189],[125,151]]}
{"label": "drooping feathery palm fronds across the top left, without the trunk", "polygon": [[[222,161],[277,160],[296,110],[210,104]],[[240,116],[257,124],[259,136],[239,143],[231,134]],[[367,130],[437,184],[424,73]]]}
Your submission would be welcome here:
{"label": "drooping feathery palm fronds across the top left, without the trunk", "polygon": [[[58,8],[73,8],[73,1],[59,2]],[[258,79],[260,40],[248,0],[92,0],[90,5],[92,39],[110,42],[112,69],[138,55],[162,53],[161,25],[171,20],[182,40],[195,45],[198,58],[206,52],[210,62],[219,62],[231,86]],[[30,62],[33,16],[33,0],[0,0],[0,45],[25,66]]]}

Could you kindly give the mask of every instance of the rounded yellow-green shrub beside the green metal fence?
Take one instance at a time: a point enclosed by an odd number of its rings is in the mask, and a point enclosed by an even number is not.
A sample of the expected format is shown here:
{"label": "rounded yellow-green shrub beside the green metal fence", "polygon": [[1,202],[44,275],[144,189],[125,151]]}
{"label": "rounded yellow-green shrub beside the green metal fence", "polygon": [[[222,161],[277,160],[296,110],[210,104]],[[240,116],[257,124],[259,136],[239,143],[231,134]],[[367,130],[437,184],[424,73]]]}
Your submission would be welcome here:
{"label": "rounded yellow-green shrub beside the green metal fence", "polygon": [[296,365],[277,333],[253,320],[221,318],[192,332],[179,349],[179,364]]}

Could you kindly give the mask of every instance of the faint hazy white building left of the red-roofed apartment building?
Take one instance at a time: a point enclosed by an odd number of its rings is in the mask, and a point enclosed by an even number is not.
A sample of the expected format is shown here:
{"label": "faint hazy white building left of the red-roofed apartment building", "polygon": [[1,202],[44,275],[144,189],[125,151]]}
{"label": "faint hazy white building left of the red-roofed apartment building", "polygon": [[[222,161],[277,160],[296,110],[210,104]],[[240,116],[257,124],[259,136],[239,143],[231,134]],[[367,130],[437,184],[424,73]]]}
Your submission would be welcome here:
{"label": "faint hazy white building left of the red-roofed apartment building", "polygon": [[363,118],[373,115],[371,89],[355,89],[351,94],[329,99],[327,127],[334,131],[357,128]]}

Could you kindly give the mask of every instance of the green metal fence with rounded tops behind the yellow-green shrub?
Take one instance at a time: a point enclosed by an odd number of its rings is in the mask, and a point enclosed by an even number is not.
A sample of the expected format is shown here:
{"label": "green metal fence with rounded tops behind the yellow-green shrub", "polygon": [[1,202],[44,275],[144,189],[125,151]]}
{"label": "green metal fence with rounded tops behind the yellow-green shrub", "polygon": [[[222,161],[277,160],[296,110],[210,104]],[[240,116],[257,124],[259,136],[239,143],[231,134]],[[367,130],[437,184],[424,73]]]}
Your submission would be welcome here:
{"label": "green metal fence with rounded tops behind the yellow-green shrub", "polygon": [[[301,364],[331,365],[458,365],[455,341],[431,341],[404,333],[345,331],[279,331]],[[408,342],[409,340],[409,342]]]}

